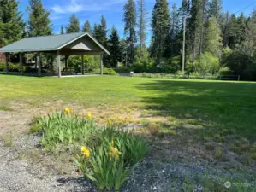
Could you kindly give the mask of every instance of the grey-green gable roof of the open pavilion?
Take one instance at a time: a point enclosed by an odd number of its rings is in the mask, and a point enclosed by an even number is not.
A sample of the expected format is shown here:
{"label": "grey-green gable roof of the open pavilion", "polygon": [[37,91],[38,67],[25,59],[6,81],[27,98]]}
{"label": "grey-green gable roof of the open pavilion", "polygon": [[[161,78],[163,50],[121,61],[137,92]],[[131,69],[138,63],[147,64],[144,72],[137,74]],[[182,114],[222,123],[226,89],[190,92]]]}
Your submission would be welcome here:
{"label": "grey-green gable roof of the open pavilion", "polygon": [[20,41],[3,47],[0,49],[0,52],[56,51],[84,36],[91,38],[92,41],[104,51],[104,53],[110,55],[109,51],[105,49],[103,45],[99,44],[95,38],[92,38],[92,36],[87,32],[23,38]]}

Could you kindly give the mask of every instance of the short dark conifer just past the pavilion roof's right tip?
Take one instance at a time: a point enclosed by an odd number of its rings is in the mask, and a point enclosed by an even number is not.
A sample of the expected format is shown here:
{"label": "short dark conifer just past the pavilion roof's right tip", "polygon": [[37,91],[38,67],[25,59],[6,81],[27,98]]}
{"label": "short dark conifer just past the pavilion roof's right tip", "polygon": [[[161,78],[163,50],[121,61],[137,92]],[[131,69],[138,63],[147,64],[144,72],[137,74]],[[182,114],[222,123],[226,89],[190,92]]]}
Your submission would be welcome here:
{"label": "short dark conifer just past the pavilion roof's right tip", "polygon": [[117,30],[115,26],[112,27],[111,29],[111,34],[110,34],[110,67],[117,67],[118,62],[121,61],[121,47],[120,47],[120,40],[119,40],[119,35],[117,33]]}

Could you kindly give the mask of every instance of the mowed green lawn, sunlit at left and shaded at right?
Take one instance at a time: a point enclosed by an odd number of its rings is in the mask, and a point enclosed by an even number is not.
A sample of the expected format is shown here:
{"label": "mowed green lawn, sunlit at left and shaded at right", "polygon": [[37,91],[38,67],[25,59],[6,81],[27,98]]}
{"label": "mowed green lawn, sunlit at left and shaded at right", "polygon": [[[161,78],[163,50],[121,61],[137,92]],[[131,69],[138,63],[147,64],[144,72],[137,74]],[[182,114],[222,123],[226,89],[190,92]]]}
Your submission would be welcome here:
{"label": "mowed green lawn, sunlit at left and shaded at right", "polygon": [[221,129],[255,138],[256,84],[191,79],[112,76],[36,78],[0,75],[0,106],[63,100],[89,108],[99,105],[152,109],[163,116],[192,116]]}

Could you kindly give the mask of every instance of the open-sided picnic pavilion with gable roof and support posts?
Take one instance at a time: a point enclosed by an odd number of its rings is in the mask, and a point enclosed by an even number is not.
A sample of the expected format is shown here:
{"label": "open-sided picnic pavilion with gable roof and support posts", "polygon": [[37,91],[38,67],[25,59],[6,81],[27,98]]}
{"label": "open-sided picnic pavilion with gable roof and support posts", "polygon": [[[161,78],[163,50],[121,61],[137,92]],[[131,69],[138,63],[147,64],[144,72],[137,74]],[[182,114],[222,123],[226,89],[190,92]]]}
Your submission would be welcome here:
{"label": "open-sided picnic pavilion with gable roof and support posts", "polygon": [[52,55],[56,55],[58,77],[62,76],[61,55],[65,55],[65,68],[67,68],[67,60],[69,55],[81,55],[82,74],[85,73],[83,56],[101,55],[99,63],[101,75],[103,74],[103,55],[110,55],[109,51],[105,49],[103,45],[99,44],[98,41],[87,32],[76,32],[61,35],[23,38],[20,41],[3,47],[2,49],[0,49],[0,52],[6,54],[5,67],[7,73],[9,72],[7,54],[20,54],[21,75],[23,74],[23,54],[36,53],[39,76],[41,76],[40,53],[51,53]]}

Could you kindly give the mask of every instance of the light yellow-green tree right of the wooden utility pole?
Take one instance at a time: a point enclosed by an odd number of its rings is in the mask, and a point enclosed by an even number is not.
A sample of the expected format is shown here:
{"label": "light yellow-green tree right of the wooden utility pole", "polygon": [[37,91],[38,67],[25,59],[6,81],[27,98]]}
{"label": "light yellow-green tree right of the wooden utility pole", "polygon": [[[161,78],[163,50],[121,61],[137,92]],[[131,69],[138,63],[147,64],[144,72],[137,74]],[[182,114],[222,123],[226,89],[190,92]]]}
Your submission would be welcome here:
{"label": "light yellow-green tree right of the wooden utility pole", "polygon": [[207,20],[205,30],[205,52],[209,52],[218,58],[221,55],[223,43],[221,37],[221,30],[217,24],[215,17]]}

